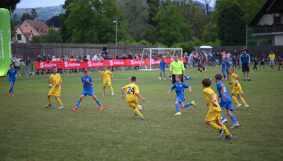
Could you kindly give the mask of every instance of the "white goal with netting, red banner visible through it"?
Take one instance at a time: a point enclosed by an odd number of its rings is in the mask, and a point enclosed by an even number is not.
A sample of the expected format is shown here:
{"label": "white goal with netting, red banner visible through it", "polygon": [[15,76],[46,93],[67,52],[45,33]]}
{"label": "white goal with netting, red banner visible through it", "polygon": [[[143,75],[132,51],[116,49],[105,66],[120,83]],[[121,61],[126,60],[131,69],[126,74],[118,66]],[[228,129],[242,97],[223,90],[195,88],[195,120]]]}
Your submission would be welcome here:
{"label": "white goal with netting, red banner visible through it", "polygon": [[182,48],[144,48],[140,57],[139,70],[160,69],[162,57],[166,58],[166,68],[169,68],[170,62],[174,60],[173,56],[178,53],[183,58]]}

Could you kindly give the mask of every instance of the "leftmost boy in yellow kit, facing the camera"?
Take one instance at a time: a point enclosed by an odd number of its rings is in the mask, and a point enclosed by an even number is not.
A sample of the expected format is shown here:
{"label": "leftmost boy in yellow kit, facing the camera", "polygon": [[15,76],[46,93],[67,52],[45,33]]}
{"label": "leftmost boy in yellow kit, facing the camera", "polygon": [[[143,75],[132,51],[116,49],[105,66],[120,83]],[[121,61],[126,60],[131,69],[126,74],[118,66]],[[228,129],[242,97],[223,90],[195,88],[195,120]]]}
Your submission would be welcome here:
{"label": "leftmost boy in yellow kit, facing the camera", "polygon": [[52,67],[52,72],[53,74],[50,75],[50,78],[48,79],[49,84],[52,84],[52,88],[50,89],[48,93],[48,105],[45,106],[45,108],[48,108],[49,106],[52,106],[51,104],[51,95],[54,95],[58,103],[60,104],[60,107],[58,109],[63,109],[64,106],[61,102],[60,94],[61,94],[61,75],[57,74],[57,67],[53,66]]}

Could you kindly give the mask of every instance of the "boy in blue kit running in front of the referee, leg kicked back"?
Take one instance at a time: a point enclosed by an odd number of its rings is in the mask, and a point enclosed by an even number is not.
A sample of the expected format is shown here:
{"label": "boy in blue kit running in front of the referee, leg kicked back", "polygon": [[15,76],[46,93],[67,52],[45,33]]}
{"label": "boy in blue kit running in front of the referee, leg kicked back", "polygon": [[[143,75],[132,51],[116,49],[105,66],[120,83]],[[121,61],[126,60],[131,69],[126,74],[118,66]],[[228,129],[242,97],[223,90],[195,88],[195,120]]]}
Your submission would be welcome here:
{"label": "boy in blue kit running in front of the referee, leg kicked back", "polygon": [[176,107],[176,110],[177,110],[177,113],[174,114],[174,115],[181,115],[181,112],[180,112],[180,106],[179,104],[181,105],[182,108],[186,108],[186,107],[189,107],[189,106],[193,106],[194,108],[196,108],[196,104],[194,103],[194,101],[192,101],[191,103],[189,104],[185,104],[184,105],[184,101],[185,101],[185,98],[184,98],[184,89],[185,88],[188,88],[189,91],[191,92],[191,88],[186,85],[185,83],[181,82],[181,79],[182,79],[182,75],[181,74],[177,74],[176,77],[176,82],[174,83],[174,85],[171,87],[171,89],[166,93],[166,95],[168,95],[170,92],[172,92],[173,89],[176,89],[176,95],[177,95],[177,99],[176,99],[176,102],[175,102],[175,107]]}

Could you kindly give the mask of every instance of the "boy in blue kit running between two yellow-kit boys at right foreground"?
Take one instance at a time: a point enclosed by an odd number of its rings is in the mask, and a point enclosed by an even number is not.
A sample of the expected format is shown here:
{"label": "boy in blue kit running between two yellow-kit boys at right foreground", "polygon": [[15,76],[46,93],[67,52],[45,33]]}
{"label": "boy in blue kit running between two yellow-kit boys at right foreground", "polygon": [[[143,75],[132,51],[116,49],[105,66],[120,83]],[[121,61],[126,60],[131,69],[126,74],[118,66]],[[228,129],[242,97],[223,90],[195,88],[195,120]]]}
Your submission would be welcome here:
{"label": "boy in blue kit running between two yellow-kit boys at right foreground", "polygon": [[[227,111],[227,115],[230,116],[230,118],[233,120],[234,125],[231,128],[237,128],[239,127],[239,123],[237,122],[235,116],[231,113],[231,111],[233,111],[233,103],[232,103],[232,99],[229,96],[226,87],[224,86],[224,84],[221,82],[222,79],[222,75],[220,73],[217,73],[214,75],[215,78],[215,82],[216,82],[216,87],[217,87],[217,91],[219,93],[219,96],[221,98],[221,101],[219,103],[221,109],[226,108]],[[228,122],[227,118],[224,117],[224,115],[221,112],[221,116],[222,116],[222,124],[225,124]]]}

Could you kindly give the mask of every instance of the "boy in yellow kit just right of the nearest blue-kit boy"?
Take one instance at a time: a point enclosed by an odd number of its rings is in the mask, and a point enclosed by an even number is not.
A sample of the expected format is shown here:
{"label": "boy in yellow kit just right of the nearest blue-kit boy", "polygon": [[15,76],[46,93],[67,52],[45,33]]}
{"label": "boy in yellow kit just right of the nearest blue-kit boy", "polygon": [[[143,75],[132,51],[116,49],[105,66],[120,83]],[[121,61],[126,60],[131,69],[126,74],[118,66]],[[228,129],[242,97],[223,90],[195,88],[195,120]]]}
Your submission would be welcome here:
{"label": "boy in yellow kit just right of the nearest blue-kit boy", "polygon": [[241,102],[245,105],[244,110],[247,110],[250,106],[247,105],[245,103],[244,98],[241,97],[241,93],[243,93],[243,91],[242,91],[242,87],[241,87],[241,85],[239,83],[239,76],[234,73],[234,68],[233,67],[230,67],[228,69],[228,71],[229,71],[229,73],[231,75],[231,82],[229,82],[229,85],[233,84],[233,86],[234,86],[234,88],[232,90],[231,98],[237,104],[236,110],[238,110],[242,105],[238,102],[237,98],[234,96],[235,93],[238,95],[238,98],[241,100]]}

